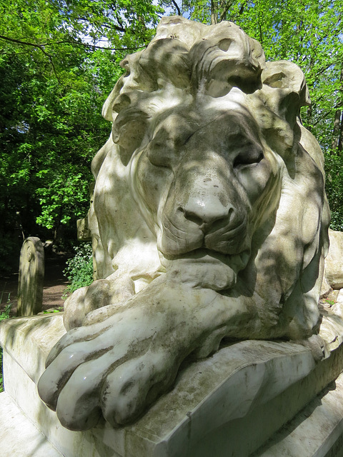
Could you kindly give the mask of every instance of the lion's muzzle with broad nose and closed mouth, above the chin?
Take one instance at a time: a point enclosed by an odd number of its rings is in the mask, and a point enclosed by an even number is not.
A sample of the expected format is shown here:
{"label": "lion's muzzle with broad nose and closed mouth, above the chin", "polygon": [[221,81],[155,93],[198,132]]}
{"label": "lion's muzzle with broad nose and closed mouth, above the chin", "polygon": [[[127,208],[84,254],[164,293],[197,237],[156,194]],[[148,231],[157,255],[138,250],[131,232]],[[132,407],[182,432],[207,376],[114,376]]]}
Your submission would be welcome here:
{"label": "lion's muzzle with broad nose and closed mouth, above the chin", "polygon": [[219,156],[216,164],[213,154],[212,165],[205,170],[189,158],[179,166],[164,206],[164,255],[178,256],[199,248],[234,255],[249,248],[249,204],[233,181],[229,164]]}

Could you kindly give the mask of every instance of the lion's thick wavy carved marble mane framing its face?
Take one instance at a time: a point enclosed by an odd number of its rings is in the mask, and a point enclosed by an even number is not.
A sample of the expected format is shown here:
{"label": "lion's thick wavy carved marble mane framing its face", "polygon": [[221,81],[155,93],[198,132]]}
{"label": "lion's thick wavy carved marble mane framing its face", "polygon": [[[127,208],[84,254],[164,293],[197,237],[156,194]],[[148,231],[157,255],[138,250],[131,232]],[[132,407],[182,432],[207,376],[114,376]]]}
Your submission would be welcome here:
{"label": "lion's thick wavy carved marble mane framing its face", "polygon": [[149,141],[147,126],[153,129],[166,109],[204,99],[219,103],[239,89],[277,156],[282,180],[277,205],[268,209],[264,202],[259,209],[268,214],[261,215],[251,261],[241,274],[247,296],[259,296],[254,304],[260,324],[250,336],[311,334],[319,316],[329,210],[322,152],[299,117],[300,107],[310,103],[302,71],[287,61],[266,63],[260,44],[230,22],[206,26],[179,16],[163,18],[149,46],[121,66],[126,73],[103,109],[112,133],[92,163],[96,277],[129,277],[136,293],[164,273],[154,222],[130,185],[131,156]]}

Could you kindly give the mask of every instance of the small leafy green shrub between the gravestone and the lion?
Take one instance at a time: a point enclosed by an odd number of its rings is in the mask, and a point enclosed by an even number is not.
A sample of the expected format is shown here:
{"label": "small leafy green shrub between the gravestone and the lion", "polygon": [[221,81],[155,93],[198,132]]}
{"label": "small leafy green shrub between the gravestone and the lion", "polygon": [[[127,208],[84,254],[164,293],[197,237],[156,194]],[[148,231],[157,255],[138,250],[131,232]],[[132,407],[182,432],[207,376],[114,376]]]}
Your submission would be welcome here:
{"label": "small leafy green shrub between the gravestone and the lion", "polygon": [[72,293],[76,289],[89,286],[93,282],[93,256],[91,243],[76,246],[75,256],[66,261],[64,276],[71,283],[66,288],[66,293]]}

